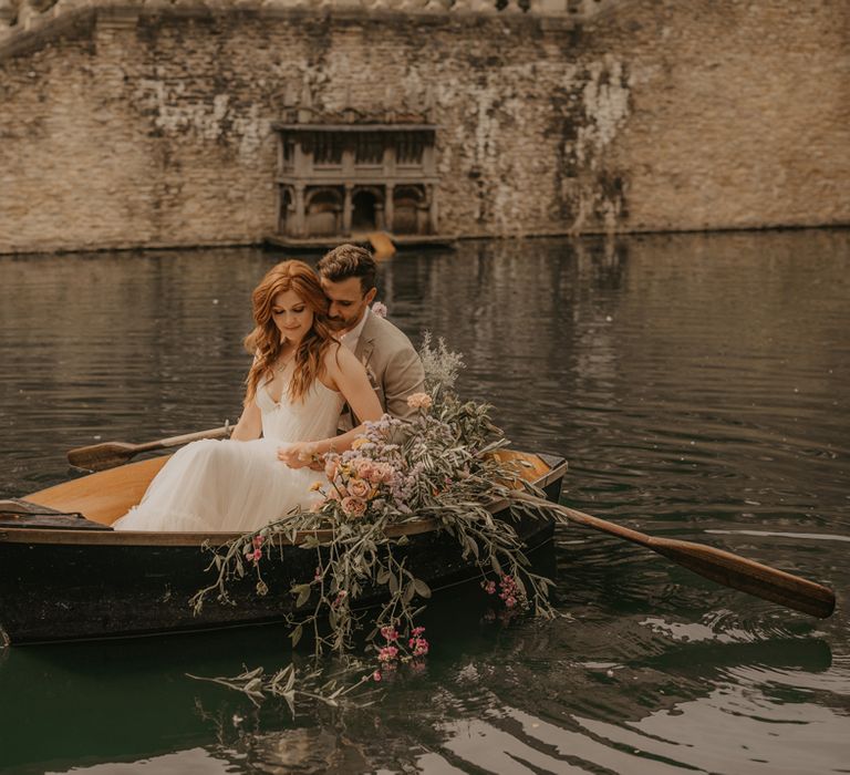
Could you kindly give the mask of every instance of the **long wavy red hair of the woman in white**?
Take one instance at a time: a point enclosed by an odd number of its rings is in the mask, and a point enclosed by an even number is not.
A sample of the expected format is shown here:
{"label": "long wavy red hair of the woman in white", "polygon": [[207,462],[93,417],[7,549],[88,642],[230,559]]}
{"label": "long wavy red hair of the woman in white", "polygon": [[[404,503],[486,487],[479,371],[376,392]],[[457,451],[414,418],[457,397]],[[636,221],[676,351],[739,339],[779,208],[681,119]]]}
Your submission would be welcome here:
{"label": "long wavy red hair of the woman in white", "polygon": [[294,372],[289,383],[291,401],[303,399],[307,391],[324,373],[324,354],[334,343],[328,327],[328,298],[317,273],[303,261],[281,261],[272,267],[251,293],[255,329],[245,338],[248,352],[255,354],[248,372],[246,405],[257,395],[262,380],[274,376],[274,363],[283,348],[280,330],[271,317],[274,297],[293,290],[313,313],[313,324],[294,353]]}

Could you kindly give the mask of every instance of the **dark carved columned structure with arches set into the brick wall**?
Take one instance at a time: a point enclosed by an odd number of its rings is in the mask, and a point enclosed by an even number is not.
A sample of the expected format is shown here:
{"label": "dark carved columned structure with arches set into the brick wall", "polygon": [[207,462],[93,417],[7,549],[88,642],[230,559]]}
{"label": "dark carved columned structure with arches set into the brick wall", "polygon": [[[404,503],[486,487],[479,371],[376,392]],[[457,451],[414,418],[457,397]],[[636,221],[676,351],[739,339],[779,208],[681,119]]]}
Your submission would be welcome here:
{"label": "dark carved columned structure with arches set into the brick wall", "polygon": [[436,234],[434,124],[279,123],[274,128],[278,231],[284,239],[374,230]]}

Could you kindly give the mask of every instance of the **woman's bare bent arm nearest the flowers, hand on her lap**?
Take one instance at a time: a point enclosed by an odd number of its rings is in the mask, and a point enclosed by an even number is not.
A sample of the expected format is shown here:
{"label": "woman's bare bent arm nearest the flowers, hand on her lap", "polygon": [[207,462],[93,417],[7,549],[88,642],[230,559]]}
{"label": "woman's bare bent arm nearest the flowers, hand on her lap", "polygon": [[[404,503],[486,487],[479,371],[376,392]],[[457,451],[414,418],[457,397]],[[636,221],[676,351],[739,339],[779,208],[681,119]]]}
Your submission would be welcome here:
{"label": "woman's bare bent arm nearest the flowers, hand on her lap", "polygon": [[[363,420],[363,423],[381,420],[384,411],[369,382],[365,368],[346,348],[338,347],[334,350],[328,354],[324,361],[325,379],[342,393],[342,397],[345,399],[354,414]],[[278,450],[278,459],[283,461],[292,468],[310,465],[312,455],[323,455],[331,450],[342,452],[350,448],[364,430],[364,425],[361,424],[348,433],[331,438],[288,444]]]}

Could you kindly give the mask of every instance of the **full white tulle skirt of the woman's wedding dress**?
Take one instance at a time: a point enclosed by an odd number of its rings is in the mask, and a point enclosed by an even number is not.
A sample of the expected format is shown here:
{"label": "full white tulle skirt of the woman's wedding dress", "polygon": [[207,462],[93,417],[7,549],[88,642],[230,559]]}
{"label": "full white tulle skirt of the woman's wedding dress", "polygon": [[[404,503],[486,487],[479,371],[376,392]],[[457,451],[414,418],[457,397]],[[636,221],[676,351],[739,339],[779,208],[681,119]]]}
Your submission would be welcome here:
{"label": "full white tulle skirt of the woman's wedding dress", "polygon": [[277,458],[281,442],[194,442],[163,466],[138,506],[120,517],[116,530],[256,530],[296,506],[310,508],[326,483],[322,472],[290,468]]}

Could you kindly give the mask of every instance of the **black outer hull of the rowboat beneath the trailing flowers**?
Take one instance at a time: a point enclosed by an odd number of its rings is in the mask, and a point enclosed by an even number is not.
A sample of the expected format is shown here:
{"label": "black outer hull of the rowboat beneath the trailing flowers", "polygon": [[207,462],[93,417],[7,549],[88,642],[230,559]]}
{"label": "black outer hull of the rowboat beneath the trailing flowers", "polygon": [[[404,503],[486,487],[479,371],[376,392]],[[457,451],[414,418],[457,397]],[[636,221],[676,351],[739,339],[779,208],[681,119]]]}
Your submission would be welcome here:
{"label": "black outer hull of the rowboat beneath the trailing flowers", "polygon": [[[540,482],[550,499],[557,500],[562,477],[563,471],[552,465]],[[494,516],[514,525],[528,551],[552,538],[553,523],[542,514],[518,521],[507,510]],[[292,583],[309,581],[315,572],[315,549],[284,545],[279,554],[276,547],[262,564],[267,595],[257,595],[257,576],[248,568],[243,578],[228,585],[235,604],[210,593],[195,614],[189,599],[215,578],[215,571],[207,570],[211,555],[200,548],[203,536],[76,527],[28,528],[19,521],[18,527],[4,529],[0,525],[0,628],[8,642],[135,637],[281,621],[296,612],[289,591]],[[394,554],[405,556],[406,567],[434,591],[480,579],[481,571],[471,558],[462,557],[456,541],[433,528],[423,524],[412,530],[407,544],[394,548]],[[365,590],[359,604],[374,606],[381,599],[382,589]]]}

